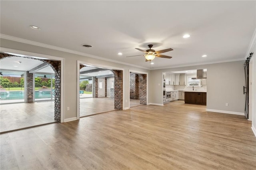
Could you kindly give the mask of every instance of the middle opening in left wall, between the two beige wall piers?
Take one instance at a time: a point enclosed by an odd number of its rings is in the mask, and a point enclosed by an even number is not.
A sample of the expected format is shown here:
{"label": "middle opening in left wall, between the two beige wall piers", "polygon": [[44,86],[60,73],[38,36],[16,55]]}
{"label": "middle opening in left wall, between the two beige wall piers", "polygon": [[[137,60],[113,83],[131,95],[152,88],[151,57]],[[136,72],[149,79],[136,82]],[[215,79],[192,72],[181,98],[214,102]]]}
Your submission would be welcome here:
{"label": "middle opening in left wall, between the two beige wall piers", "polygon": [[[79,64],[79,117],[123,108],[123,71]],[[84,85],[87,83],[87,85]],[[87,93],[87,94],[85,94]],[[91,93],[91,96],[88,94]]]}

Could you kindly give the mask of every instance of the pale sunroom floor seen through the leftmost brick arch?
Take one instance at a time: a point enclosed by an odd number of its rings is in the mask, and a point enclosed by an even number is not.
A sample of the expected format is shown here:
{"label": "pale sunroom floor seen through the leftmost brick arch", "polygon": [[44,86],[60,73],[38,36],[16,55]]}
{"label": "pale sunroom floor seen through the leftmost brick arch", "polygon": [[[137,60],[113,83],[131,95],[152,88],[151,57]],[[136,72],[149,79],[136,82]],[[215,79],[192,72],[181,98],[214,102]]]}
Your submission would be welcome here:
{"label": "pale sunroom floor seen through the leftmost brick arch", "polygon": [[0,105],[0,117],[0,132],[56,122],[54,101]]}

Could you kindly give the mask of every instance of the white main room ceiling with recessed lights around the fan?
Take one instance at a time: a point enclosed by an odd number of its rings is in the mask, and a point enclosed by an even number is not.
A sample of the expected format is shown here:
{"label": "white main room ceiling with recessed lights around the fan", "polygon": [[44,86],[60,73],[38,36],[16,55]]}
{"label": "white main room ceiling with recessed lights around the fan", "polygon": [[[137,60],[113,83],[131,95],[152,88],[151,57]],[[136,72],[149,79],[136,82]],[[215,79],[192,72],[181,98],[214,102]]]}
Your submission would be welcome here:
{"label": "white main room ceiling with recessed lights around the fan", "polygon": [[[2,38],[14,36],[148,69],[152,65],[143,56],[126,56],[143,54],[134,48],[146,50],[152,43],[155,50],[174,49],[163,53],[172,59],[154,59],[154,69],[242,60],[256,28],[256,1],[0,3]],[[190,38],[182,38],[184,34]],[[84,48],[84,43],[93,47]]]}

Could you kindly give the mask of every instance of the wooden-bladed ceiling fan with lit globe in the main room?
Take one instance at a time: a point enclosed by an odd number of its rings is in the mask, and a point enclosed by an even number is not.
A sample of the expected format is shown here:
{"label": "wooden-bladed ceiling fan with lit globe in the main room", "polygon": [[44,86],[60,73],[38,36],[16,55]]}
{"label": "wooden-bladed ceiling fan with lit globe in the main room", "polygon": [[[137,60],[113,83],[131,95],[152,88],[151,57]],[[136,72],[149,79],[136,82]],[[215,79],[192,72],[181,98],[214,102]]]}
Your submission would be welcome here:
{"label": "wooden-bladed ceiling fan with lit globe in the main room", "polygon": [[[162,49],[159,51],[155,51],[154,49],[151,49],[153,47],[152,44],[148,45],[149,49],[147,49],[146,51],[144,51],[143,49],[139,49],[139,48],[135,48],[138,49],[139,51],[144,52],[145,54],[143,56],[145,56],[146,61],[151,61],[153,60],[155,57],[160,57],[160,58],[172,58],[171,56],[167,56],[167,55],[162,55],[160,53],[165,53],[168,51],[172,51],[172,48],[167,48],[167,49]],[[132,56],[127,56],[127,57],[135,57],[135,56],[140,56],[140,55],[132,55]]]}

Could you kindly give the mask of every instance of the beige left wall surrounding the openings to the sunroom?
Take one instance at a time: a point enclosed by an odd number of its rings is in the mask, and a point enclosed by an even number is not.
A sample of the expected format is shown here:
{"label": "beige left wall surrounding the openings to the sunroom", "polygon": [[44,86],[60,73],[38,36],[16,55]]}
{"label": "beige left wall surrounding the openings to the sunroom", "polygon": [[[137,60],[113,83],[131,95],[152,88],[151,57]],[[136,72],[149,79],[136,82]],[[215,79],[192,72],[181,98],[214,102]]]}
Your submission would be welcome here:
{"label": "beige left wall surrounding the openings to the sunroom", "polygon": [[[1,47],[8,49],[16,49],[20,51],[28,51],[32,53],[51,55],[55,57],[64,58],[64,119],[74,120],[77,116],[77,61],[83,61],[84,63],[94,64],[94,65],[107,65],[109,68],[123,68],[124,70],[124,99],[123,101],[129,101],[129,69],[134,71],[146,72],[149,70],[142,69],[138,67],[132,67],[128,65],[113,63],[110,61],[104,61],[100,59],[95,59],[92,57],[86,57],[82,55],[72,54],[68,52],[58,51],[54,49],[49,49],[45,47],[39,47],[36,45],[30,45],[26,43],[15,42],[6,39],[0,39]],[[67,107],[70,110],[67,111]],[[124,103],[124,108],[128,108],[128,102]],[[74,119],[73,119],[74,118]]]}

